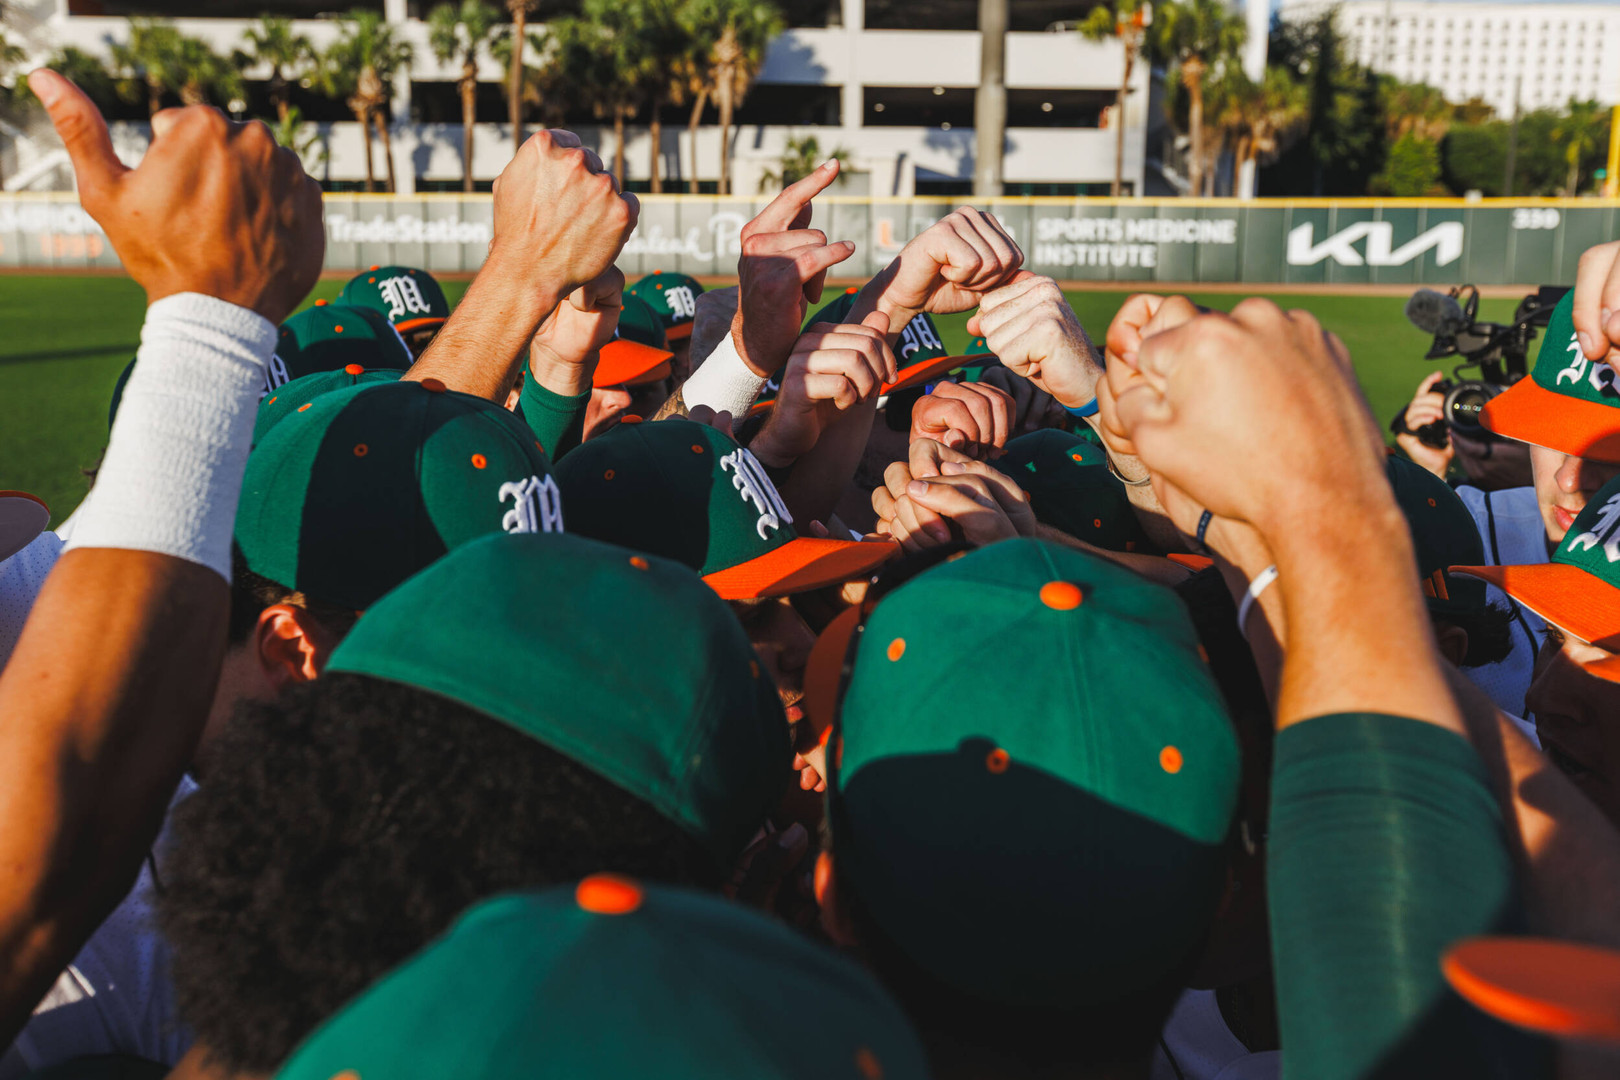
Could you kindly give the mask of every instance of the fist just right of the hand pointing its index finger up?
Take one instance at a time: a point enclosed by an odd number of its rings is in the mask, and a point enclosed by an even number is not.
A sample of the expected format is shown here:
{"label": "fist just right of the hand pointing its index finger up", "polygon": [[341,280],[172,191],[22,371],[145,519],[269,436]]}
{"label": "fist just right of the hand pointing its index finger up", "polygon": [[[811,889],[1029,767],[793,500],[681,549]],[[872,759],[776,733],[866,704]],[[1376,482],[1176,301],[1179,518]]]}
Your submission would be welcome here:
{"label": "fist just right of the hand pointing its index finger up", "polygon": [[1013,280],[1022,264],[1024,253],[1001,222],[964,206],[906,244],[862,290],[862,304],[875,303],[899,334],[919,311],[949,314],[977,308],[985,293]]}

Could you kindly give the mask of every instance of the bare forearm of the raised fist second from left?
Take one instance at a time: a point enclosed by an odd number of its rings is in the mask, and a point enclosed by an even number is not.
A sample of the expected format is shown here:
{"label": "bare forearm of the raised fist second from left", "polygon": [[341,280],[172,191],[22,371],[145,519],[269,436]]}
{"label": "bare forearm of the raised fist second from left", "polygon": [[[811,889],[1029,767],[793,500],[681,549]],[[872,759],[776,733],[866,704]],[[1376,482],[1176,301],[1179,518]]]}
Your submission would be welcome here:
{"label": "bare forearm of the raised fist second from left", "polygon": [[536,285],[533,277],[531,270],[507,267],[491,254],[403,379],[437,379],[449,390],[504,405],[535,330],[564,296],[561,283]]}

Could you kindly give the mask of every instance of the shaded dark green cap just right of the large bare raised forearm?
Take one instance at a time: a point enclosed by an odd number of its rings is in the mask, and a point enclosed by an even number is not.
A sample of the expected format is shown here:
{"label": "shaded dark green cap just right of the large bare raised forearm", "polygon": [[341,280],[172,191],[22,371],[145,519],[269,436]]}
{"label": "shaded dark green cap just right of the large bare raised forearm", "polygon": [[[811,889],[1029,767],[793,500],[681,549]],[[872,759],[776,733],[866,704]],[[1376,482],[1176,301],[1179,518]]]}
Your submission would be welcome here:
{"label": "shaded dark green cap just right of the large bare raised forearm", "polygon": [[1486,583],[1452,573],[1455,565],[1479,565],[1486,560],[1486,544],[1479,539],[1474,515],[1443,479],[1414,461],[1392,453],[1385,474],[1395,489],[1396,505],[1406,515],[1429,612],[1443,619],[1484,610],[1489,604]]}

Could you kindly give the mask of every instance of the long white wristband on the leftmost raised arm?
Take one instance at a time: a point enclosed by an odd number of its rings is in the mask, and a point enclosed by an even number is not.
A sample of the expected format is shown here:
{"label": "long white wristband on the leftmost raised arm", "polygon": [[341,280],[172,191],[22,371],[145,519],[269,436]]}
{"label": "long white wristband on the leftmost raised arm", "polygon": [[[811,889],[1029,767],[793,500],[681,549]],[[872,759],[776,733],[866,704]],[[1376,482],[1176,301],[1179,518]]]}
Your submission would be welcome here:
{"label": "long white wristband on the leftmost raised arm", "polygon": [[224,300],[178,293],[147,308],[107,457],[65,551],[151,551],[230,581],[241,471],[274,351],[275,325]]}

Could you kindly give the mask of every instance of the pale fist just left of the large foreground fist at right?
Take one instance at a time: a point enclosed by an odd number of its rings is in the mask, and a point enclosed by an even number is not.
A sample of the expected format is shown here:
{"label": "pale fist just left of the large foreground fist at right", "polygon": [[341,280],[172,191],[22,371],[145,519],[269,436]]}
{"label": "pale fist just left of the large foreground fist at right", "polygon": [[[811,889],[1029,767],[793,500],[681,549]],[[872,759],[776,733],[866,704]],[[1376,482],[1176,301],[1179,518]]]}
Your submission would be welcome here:
{"label": "pale fist just left of the large foreground fist at right", "polygon": [[985,295],[967,321],[990,351],[1014,374],[1024,376],[1068,408],[1097,397],[1103,359],[1081,327],[1081,319],[1050,277],[1024,270]]}

